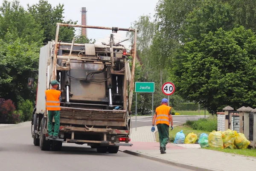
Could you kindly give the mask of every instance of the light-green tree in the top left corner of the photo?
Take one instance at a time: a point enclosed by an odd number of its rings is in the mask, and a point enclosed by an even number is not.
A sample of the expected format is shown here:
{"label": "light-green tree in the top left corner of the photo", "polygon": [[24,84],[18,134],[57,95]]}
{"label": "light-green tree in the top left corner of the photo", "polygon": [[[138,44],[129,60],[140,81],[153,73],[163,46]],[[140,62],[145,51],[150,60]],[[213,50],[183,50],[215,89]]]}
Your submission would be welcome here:
{"label": "light-green tree in the top left corner of the photo", "polygon": [[0,6],[0,39],[3,39],[8,31],[13,39],[20,38],[22,42],[42,42],[43,31],[40,25],[17,0],[12,3],[4,0]]}

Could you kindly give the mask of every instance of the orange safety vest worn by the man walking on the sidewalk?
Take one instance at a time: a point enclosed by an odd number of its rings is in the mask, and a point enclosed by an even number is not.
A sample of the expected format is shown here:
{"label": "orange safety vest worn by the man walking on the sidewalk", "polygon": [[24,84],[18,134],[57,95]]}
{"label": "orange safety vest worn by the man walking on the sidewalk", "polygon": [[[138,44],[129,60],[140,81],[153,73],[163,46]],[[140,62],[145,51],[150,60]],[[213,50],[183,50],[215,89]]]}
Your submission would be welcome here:
{"label": "orange safety vest worn by the man walking on the sidewalk", "polygon": [[160,105],[156,108],[157,117],[156,117],[156,125],[159,123],[165,123],[167,125],[170,125],[169,120],[169,112],[172,107],[167,105]]}

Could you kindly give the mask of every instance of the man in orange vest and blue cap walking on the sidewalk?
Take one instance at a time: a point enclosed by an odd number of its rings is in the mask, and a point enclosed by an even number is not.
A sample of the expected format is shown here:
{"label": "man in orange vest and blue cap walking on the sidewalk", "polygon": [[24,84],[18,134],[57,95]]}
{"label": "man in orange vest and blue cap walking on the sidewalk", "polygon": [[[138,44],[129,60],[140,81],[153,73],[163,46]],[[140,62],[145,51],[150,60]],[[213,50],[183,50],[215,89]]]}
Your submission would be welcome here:
{"label": "man in orange vest and blue cap walking on the sidewalk", "polygon": [[[156,114],[154,114],[152,121],[151,131],[155,131],[154,123],[156,121],[159,142],[160,142],[160,153],[166,153],[166,144],[169,142],[169,126],[171,122],[171,128],[173,129],[172,123],[172,112],[170,106],[168,106],[168,100],[166,98],[162,99],[162,105],[156,108]],[[171,130],[172,130],[171,129]]]}

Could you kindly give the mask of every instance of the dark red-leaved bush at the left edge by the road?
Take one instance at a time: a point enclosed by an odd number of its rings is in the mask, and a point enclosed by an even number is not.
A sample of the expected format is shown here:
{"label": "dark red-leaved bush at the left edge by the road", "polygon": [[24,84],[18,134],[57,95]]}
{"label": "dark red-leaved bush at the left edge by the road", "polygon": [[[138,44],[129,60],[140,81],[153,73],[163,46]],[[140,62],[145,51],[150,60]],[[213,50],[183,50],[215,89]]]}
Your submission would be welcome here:
{"label": "dark red-leaved bush at the left edge by the road", "polygon": [[15,113],[15,105],[12,100],[0,98],[0,123],[18,123],[19,115]]}

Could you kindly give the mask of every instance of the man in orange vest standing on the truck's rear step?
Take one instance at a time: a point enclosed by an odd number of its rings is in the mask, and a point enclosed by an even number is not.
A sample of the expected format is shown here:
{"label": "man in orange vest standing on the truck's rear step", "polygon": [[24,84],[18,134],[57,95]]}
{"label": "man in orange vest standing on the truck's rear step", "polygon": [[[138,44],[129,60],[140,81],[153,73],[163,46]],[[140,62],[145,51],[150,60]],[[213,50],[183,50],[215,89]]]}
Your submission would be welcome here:
{"label": "man in orange vest standing on the truck's rear step", "polygon": [[[51,82],[52,88],[45,91],[46,109],[48,110],[48,137],[53,139],[58,138],[58,133],[60,131],[60,102],[61,102],[61,91],[57,90],[58,85],[57,80]],[[54,131],[52,131],[52,119],[54,117]]]}

